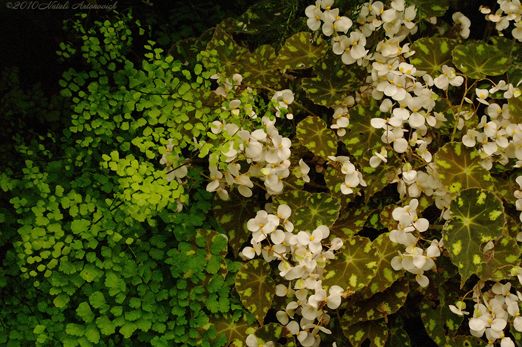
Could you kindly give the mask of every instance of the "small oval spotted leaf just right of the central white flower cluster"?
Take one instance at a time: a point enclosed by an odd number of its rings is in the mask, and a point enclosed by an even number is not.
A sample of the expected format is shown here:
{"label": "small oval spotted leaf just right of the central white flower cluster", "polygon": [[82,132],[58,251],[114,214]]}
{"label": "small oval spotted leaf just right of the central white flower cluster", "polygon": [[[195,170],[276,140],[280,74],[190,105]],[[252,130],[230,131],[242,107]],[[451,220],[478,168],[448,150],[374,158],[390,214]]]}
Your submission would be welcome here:
{"label": "small oval spotted leaf just right of the central white flower cluster", "polygon": [[299,141],[314,155],[324,159],[336,155],[337,137],[321,118],[309,115],[299,122],[296,133]]}

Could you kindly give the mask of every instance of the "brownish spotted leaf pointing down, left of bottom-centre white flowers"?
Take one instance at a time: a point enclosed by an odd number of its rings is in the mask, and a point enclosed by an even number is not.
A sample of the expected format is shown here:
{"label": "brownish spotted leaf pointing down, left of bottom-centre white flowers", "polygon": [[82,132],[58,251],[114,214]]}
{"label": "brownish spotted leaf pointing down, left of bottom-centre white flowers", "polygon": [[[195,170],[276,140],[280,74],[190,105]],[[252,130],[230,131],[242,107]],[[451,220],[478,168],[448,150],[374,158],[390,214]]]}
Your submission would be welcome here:
{"label": "brownish spotted leaf pointing down, left of bottom-centre white flowers", "polygon": [[246,262],[235,277],[235,289],[241,302],[263,326],[263,319],[272,305],[275,295],[270,265],[262,259]]}

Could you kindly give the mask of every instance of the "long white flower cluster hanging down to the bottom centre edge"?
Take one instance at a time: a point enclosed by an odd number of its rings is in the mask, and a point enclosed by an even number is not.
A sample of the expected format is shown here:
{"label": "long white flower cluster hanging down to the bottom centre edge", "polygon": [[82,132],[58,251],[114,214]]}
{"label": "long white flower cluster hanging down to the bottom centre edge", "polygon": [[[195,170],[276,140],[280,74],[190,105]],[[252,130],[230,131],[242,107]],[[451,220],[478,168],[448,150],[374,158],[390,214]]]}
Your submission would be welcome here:
{"label": "long white flower cluster hanging down to the bottom centre edge", "polygon": [[[284,310],[278,311],[276,317],[297,336],[301,345],[318,346],[321,342],[318,332],[331,333],[324,327],[330,319],[327,308],[338,308],[345,292],[337,285],[327,288],[327,292],[322,284],[326,262],[334,259],[334,251],[342,247],[342,240],[334,238],[331,244],[325,245],[324,241],[330,235],[328,227],[320,225],[312,232],[298,232],[289,222],[290,215],[288,205],[279,205],[273,214],[258,211],[247,222],[247,228],[252,232],[252,247],[245,247],[240,255],[252,259],[256,254],[262,254],[268,262],[280,261],[279,274],[289,284],[277,285],[276,295],[293,300]],[[263,247],[261,242],[265,240],[268,245]],[[323,249],[324,246],[327,246],[326,250]],[[299,322],[296,316],[301,316]],[[255,337],[248,339],[254,345]]]}

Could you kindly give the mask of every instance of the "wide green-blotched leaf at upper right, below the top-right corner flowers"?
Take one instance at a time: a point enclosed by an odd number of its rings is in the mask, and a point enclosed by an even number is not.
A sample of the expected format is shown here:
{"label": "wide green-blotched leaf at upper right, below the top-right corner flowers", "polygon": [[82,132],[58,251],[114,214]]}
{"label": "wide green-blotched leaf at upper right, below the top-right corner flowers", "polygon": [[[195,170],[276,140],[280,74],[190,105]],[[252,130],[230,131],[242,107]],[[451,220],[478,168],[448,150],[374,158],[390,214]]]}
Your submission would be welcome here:
{"label": "wide green-blotched leaf at upper right, below the top-right corner flowers", "polygon": [[453,64],[471,78],[502,75],[509,69],[509,56],[481,41],[458,45],[452,56]]}

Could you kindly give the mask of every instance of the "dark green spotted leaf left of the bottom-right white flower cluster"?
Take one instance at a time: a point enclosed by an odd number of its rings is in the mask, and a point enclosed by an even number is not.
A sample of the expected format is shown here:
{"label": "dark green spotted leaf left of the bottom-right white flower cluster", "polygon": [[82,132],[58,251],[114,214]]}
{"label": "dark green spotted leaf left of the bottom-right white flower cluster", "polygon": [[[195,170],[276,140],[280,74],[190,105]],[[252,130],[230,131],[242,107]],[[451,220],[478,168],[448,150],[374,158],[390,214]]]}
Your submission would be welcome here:
{"label": "dark green spotted leaf left of the bottom-right white flower cluster", "polygon": [[[446,291],[447,286],[438,286],[438,293],[425,297],[420,304],[421,319],[428,335],[440,347],[444,347],[447,337],[454,337],[464,319],[448,307],[454,305],[459,296],[454,291]],[[432,301],[438,300],[438,305]]]}

